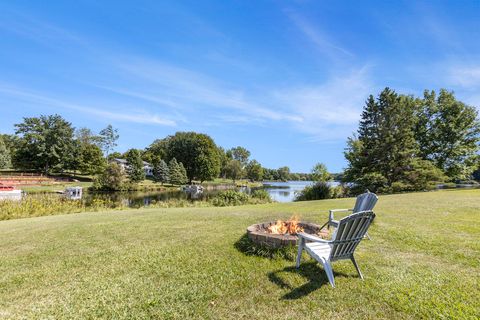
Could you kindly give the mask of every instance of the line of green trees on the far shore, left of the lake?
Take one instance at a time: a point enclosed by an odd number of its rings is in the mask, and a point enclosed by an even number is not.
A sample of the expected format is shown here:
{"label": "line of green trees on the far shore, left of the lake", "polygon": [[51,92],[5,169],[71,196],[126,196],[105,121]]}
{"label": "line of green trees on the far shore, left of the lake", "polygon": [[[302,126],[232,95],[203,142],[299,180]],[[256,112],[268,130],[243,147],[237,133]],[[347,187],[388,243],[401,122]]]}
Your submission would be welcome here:
{"label": "line of green trees on the far shore, left of the lake", "polygon": [[97,180],[109,185],[114,181],[109,181],[108,175],[119,172],[113,160],[121,158],[128,165],[125,177],[117,180],[128,179],[134,183],[145,179],[144,161],[153,165],[153,178],[161,183],[185,184],[215,178],[233,181],[310,178],[310,174],[291,173],[288,167],[264,168],[251,159],[246,148],[237,146],[226,150],[202,133],[177,132],[155,140],[145,149],[120,153],[115,151],[119,133],[111,125],[94,133],[88,128],[76,129],[55,114],[24,118],[14,126],[15,134],[0,135],[0,169],[103,174],[103,178],[99,176]]}

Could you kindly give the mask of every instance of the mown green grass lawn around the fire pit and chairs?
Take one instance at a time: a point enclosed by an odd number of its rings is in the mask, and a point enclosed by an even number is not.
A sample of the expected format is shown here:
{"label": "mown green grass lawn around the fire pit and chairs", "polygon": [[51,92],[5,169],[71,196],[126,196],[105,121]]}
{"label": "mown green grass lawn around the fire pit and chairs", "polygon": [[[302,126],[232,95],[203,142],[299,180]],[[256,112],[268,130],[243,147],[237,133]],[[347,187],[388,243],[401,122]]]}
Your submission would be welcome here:
{"label": "mown green grass lawn around the fire pit and chairs", "polygon": [[336,288],[302,267],[236,249],[253,223],[321,223],[354,199],[141,209],[0,222],[0,318],[411,319],[480,317],[480,190],[380,197],[365,276]]}

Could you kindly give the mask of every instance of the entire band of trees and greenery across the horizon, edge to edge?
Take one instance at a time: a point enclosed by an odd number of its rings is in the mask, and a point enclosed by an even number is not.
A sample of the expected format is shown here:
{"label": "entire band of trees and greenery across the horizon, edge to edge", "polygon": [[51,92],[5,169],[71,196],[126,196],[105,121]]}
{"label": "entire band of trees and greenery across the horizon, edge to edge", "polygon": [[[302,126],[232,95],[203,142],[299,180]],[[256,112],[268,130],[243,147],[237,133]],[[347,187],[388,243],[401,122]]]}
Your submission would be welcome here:
{"label": "entire band of trees and greenery across the horizon, edge to edge", "polygon": [[[423,97],[389,88],[377,97],[371,95],[357,132],[347,141],[347,167],[337,174],[320,162],[308,173],[291,172],[288,166],[265,168],[246,148],[224,149],[203,133],[176,132],[124,153],[115,151],[119,137],[111,125],[96,134],[74,128],[57,114],[24,118],[15,124],[15,134],[0,135],[0,170],[12,179],[23,172],[50,178],[24,183],[23,189],[32,193],[73,184],[117,192],[161,191],[185,184],[314,181],[297,195],[299,201],[348,197],[365,190],[428,191],[480,180],[478,112],[445,89],[425,91]],[[341,184],[332,187],[328,183],[332,179]]]}

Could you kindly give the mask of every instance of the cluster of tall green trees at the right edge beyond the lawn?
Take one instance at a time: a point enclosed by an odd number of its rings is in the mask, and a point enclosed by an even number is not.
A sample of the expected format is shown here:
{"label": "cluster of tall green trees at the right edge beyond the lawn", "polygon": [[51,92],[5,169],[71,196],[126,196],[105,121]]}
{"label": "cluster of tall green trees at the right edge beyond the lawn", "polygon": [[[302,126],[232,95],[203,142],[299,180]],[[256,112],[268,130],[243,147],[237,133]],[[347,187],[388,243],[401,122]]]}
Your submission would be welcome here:
{"label": "cluster of tall green trees at the right edge beyond the lawn", "polygon": [[445,89],[422,98],[385,88],[367,99],[347,141],[343,181],[354,193],[428,190],[479,168],[478,112]]}

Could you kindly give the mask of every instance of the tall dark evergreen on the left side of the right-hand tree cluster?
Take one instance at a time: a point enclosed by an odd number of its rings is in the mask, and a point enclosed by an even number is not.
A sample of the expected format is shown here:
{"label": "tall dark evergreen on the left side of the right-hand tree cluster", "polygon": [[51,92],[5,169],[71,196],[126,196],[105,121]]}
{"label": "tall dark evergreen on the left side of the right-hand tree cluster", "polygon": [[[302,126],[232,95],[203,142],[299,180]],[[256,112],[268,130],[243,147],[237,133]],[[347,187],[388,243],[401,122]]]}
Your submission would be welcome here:
{"label": "tall dark evergreen on the left side of the right-hand tree cluster", "polygon": [[441,169],[422,157],[416,140],[422,104],[412,96],[385,88],[370,96],[362,113],[358,137],[347,141],[344,181],[354,192],[429,189],[444,180]]}

